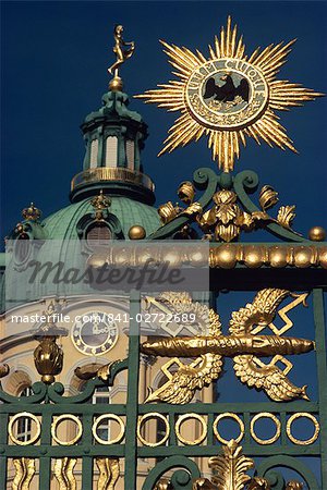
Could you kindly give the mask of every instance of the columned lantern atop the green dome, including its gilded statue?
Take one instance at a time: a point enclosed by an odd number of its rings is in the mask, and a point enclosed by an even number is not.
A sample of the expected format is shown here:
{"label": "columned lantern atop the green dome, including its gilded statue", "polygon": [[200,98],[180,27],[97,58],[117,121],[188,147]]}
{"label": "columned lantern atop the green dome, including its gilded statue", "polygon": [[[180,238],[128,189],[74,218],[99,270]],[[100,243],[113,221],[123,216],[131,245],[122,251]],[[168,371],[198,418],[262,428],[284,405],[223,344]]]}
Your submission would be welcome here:
{"label": "columned lantern atop the green dome, including its gilded statue", "polygon": [[[114,27],[117,61],[109,91],[102,96],[102,107],[90,112],[81,125],[85,140],[83,172],[72,180],[71,201],[97,195],[123,195],[142,203],[154,204],[154,183],[143,173],[141,152],[147,138],[147,125],[141,114],[129,109],[129,96],[121,91],[120,66],[134,51],[134,42],[122,40],[122,26]],[[123,46],[129,48],[123,50]]]}

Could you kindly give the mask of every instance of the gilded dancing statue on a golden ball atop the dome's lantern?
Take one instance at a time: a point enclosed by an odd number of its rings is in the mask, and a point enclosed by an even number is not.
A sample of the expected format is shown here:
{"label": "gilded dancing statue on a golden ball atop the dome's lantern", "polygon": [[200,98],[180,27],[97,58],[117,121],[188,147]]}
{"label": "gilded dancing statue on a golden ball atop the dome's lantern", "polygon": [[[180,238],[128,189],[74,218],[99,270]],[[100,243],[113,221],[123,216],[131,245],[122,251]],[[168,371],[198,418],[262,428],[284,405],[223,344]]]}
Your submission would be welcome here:
{"label": "gilded dancing statue on a golden ball atop the dome's lantern", "polygon": [[116,24],[113,29],[114,47],[113,52],[116,54],[116,62],[108,68],[108,72],[113,74],[113,78],[109,83],[109,89],[113,91],[121,91],[123,88],[123,83],[121,77],[118,75],[119,66],[124,63],[134,52],[135,44],[134,41],[125,41],[122,36],[123,26],[121,24]]}

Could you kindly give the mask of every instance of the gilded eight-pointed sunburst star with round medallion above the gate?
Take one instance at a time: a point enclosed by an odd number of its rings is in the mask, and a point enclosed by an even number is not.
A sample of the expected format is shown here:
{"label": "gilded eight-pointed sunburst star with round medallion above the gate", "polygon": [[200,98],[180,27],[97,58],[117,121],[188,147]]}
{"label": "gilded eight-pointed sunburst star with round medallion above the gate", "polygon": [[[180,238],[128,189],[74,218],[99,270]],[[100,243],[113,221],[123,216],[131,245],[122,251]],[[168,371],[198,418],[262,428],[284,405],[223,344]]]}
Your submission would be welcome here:
{"label": "gilded eight-pointed sunburst star with round medallion above the gate", "polygon": [[[198,140],[203,135],[208,137],[213,159],[226,172],[233,169],[246,137],[254,138],[257,144],[264,140],[271,147],[276,145],[296,152],[274,111],[287,111],[323,94],[300,84],[276,79],[294,40],[269,45],[263,50],[258,48],[247,58],[243,38],[238,38],[237,25],[232,27],[231,17],[228,17],[220,38],[216,36],[214,45],[209,46],[208,59],[198,50],[192,52],[185,47],[160,42],[173,66],[172,73],[179,79],[136,96],[181,113],[169,130],[159,156]],[[222,79],[228,79],[223,86]],[[209,97],[208,84],[213,90]],[[231,87],[229,93],[228,84]],[[247,85],[247,95],[244,85],[240,88],[242,84]]]}

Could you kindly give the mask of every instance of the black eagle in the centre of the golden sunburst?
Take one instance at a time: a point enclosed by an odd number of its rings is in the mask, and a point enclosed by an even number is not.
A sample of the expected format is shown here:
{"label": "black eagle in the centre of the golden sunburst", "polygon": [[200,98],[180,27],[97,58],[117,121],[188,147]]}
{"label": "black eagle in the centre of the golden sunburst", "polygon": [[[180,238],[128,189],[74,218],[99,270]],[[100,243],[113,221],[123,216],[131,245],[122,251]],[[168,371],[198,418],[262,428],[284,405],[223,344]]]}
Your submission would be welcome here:
{"label": "black eagle in the centre of the golden sunburst", "polygon": [[247,79],[242,78],[237,87],[230,75],[222,75],[220,79],[225,81],[225,84],[221,87],[216,85],[215,78],[213,77],[207,81],[205,94],[203,96],[205,99],[215,96],[215,100],[232,102],[237,96],[241,96],[245,102],[249,102],[250,87]]}

